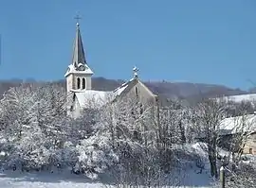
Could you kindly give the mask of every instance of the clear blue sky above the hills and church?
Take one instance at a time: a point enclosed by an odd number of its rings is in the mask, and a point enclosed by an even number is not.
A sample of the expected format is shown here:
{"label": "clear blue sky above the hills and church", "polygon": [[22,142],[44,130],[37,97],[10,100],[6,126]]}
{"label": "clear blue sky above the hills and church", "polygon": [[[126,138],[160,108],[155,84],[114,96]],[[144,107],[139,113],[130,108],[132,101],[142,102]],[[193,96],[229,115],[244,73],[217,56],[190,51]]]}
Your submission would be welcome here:
{"label": "clear blue sky above the hills and church", "polygon": [[256,82],[255,0],[2,0],[0,79],[64,78],[77,12],[95,77]]}

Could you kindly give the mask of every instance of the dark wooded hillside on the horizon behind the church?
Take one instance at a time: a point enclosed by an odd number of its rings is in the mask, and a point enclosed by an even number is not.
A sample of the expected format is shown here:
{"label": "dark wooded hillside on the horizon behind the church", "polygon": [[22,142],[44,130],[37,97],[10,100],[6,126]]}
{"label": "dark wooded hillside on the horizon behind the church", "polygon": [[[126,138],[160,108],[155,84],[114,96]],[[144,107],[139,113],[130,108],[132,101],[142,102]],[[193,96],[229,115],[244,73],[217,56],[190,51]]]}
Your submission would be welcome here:
{"label": "dark wooded hillside on the horizon behind the church", "polygon": [[[21,79],[10,79],[0,81],[0,95],[4,94],[10,87],[18,86],[22,82],[35,82],[33,79],[23,81]],[[55,81],[65,87],[64,80]],[[104,77],[93,77],[92,86],[94,90],[111,91],[119,87],[124,80],[107,79]],[[169,81],[145,81],[144,82],[155,94],[165,98],[183,98],[194,100],[200,96],[212,97],[219,95],[249,94],[247,91],[232,89],[223,85],[169,82]],[[253,92],[252,92],[253,93]]]}

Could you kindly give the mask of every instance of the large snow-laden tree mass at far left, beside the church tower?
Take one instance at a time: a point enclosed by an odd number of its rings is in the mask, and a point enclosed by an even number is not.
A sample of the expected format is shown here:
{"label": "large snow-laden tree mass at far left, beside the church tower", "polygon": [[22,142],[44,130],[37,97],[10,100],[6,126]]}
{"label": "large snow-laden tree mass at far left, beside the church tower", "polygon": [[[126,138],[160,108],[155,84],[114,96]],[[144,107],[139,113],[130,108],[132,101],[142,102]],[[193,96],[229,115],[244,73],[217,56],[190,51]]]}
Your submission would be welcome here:
{"label": "large snow-laden tree mass at far left, beside the church tower", "polygon": [[65,93],[47,84],[9,89],[0,101],[1,135],[9,147],[7,165],[38,169],[54,164],[67,139]]}

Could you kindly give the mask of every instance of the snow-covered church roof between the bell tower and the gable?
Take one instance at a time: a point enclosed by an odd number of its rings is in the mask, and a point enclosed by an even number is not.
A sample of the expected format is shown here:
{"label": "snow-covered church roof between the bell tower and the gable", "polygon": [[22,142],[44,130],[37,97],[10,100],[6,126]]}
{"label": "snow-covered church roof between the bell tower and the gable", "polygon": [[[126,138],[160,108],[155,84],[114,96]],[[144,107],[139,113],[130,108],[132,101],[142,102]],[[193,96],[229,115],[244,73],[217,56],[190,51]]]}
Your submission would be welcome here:
{"label": "snow-covered church roof between the bell tower and the gable", "polygon": [[72,92],[76,94],[81,108],[98,109],[122,94],[132,80],[125,82],[119,88],[110,92],[96,90],[72,90]]}

